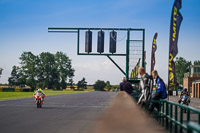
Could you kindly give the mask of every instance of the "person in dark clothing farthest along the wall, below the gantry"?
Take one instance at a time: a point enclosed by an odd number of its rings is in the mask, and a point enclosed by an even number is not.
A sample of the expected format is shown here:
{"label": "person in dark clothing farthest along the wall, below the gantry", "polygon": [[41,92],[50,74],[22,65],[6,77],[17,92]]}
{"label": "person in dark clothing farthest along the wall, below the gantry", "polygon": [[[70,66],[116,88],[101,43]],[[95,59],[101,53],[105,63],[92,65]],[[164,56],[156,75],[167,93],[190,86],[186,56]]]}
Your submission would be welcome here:
{"label": "person in dark clothing farthest along the wall, below the gantry", "polygon": [[126,77],[122,78],[122,82],[120,83],[120,91],[125,91],[129,95],[133,94],[132,84],[126,80]]}

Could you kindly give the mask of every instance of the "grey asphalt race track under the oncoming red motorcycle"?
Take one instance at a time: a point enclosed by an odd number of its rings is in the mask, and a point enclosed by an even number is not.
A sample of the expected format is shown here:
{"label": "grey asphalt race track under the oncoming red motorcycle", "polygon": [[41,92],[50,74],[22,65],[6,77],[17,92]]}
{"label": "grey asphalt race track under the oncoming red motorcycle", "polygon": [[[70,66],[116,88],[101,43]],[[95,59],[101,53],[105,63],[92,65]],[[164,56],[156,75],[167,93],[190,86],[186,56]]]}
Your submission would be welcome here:
{"label": "grey asphalt race track under the oncoming red motorcycle", "polygon": [[0,133],[88,133],[116,94],[47,96],[39,109],[34,98],[0,101]]}

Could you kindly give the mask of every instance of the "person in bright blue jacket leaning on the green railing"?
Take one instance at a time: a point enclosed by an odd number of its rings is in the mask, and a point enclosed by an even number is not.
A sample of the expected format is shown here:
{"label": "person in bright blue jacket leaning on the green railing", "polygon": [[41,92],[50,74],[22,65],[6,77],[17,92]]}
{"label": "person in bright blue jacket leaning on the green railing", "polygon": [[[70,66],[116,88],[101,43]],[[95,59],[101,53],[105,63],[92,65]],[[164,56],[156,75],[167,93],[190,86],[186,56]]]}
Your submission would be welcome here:
{"label": "person in bright blue jacket leaning on the green railing", "polygon": [[[155,79],[156,82],[156,93],[153,94],[152,100],[160,100],[167,98],[166,87],[164,81],[159,77],[158,72],[156,70],[152,71],[152,77]],[[153,102],[149,106],[149,110],[152,113],[155,107],[159,107],[159,104]]]}

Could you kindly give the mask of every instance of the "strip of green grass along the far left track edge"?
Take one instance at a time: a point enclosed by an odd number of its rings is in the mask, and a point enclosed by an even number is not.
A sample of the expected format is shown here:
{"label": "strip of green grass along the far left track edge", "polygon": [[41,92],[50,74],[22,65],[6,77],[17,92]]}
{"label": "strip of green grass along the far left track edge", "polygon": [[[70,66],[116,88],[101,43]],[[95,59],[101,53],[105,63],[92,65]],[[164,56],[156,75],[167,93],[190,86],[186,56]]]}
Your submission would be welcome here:
{"label": "strip of green grass along the far left track edge", "polygon": [[[85,91],[54,91],[54,90],[44,90],[44,93],[48,95],[59,95],[59,94],[71,94],[71,93],[83,93]],[[0,100],[9,100],[17,98],[33,97],[33,92],[0,92]]]}

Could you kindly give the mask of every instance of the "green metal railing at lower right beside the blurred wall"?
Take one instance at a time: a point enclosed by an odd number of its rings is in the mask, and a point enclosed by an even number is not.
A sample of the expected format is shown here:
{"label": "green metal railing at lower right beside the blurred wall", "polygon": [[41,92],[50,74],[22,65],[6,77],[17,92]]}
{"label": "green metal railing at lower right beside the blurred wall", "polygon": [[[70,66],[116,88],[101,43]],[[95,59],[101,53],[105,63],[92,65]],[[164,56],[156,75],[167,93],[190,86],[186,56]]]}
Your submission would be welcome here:
{"label": "green metal railing at lower right beside the blurred wall", "polygon": [[[136,91],[133,97],[137,100],[139,93]],[[146,109],[151,103],[158,104],[152,116],[170,133],[200,133],[200,110],[167,100],[150,100]]]}

